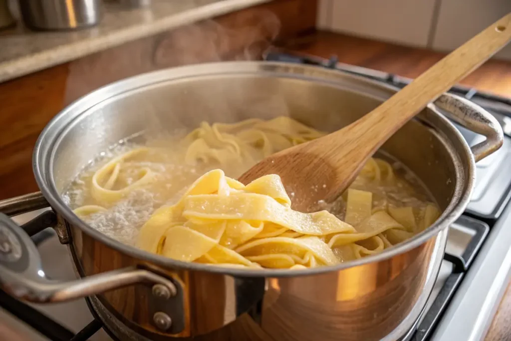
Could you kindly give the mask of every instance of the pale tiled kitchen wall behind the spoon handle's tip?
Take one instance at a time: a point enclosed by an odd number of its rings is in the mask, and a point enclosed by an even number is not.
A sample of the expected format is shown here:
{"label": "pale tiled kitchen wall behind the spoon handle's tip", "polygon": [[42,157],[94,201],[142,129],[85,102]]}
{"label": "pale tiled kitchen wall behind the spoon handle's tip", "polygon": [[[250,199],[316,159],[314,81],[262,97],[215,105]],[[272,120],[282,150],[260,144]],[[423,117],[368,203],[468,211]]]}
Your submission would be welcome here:
{"label": "pale tiled kitchen wall behind the spoon handle's tip", "polygon": [[[451,51],[511,12],[511,0],[320,0],[318,28]],[[511,60],[511,45],[497,58]]]}

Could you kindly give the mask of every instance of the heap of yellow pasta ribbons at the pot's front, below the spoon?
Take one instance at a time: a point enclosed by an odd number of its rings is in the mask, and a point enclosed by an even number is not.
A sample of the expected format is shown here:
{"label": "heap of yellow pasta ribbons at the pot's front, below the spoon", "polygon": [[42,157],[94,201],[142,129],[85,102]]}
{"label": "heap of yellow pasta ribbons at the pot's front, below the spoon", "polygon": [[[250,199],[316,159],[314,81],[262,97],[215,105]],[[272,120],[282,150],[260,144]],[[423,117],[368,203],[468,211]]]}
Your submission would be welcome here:
{"label": "heap of yellow pasta ribbons at the pot's front, below the spoon", "polygon": [[[373,255],[424,224],[410,216],[411,209],[373,213],[371,200],[370,192],[348,190],[346,220],[352,226],[327,211],[293,211],[277,175],[244,186],[217,169],[195,181],[174,206],[157,210],[137,246],[181,261],[300,269]],[[431,220],[433,208],[427,206],[423,216]]]}

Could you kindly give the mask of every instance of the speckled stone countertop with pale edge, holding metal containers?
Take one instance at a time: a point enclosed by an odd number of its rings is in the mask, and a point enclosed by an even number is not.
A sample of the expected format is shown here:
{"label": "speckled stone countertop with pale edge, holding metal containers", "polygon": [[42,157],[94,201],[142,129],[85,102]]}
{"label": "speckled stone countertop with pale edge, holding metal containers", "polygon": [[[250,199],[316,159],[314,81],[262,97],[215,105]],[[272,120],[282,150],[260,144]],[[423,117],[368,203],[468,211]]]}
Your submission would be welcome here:
{"label": "speckled stone countertop with pale edge, holding metal containers", "polygon": [[98,26],[67,32],[33,32],[18,21],[15,29],[0,31],[0,82],[269,1],[152,0],[151,6],[143,9],[104,4]]}

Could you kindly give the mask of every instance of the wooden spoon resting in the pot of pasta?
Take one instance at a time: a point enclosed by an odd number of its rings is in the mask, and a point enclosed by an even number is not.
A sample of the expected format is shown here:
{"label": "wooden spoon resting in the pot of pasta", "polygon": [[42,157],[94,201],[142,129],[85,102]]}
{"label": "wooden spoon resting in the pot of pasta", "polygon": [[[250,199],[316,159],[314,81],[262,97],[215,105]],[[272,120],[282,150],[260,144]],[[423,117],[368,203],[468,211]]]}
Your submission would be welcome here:
{"label": "wooden spoon resting in the pot of pasta", "polygon": [[319,139],[275,153],[240,177],[244,184],[278,174],[302,212],[335,200],[352,183],[368,158],[408,120],[511,40],[511,13],[438,61],[400,92],[358,121]]}

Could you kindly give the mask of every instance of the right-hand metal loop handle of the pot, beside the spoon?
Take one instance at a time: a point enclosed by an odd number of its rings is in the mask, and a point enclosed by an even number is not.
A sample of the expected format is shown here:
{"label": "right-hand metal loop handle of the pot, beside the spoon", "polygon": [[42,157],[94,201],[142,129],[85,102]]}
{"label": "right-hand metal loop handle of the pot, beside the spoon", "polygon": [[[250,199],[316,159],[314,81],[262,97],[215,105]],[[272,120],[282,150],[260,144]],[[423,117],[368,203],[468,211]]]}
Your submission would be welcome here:
{"label": "right-hand metal loop handle of the pot, beside the spoon", "polygon": [[504,133],[501,125],[490,112],[479,105],[452,94],[440,96],[434,105],[443,109],[451,120],[486,137],[486,140],[471,147],[476,162],[502,146]]}

